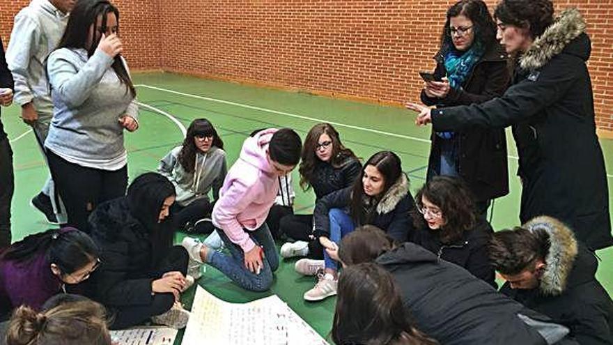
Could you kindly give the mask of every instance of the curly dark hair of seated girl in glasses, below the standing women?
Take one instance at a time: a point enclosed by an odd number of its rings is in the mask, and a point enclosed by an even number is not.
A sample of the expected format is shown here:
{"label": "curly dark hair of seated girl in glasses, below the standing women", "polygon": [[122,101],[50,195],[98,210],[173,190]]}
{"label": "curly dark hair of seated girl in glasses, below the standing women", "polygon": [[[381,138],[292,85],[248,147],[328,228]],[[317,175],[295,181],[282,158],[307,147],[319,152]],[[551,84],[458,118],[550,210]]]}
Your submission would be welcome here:
{"label": "curly dark hair of seated girl in glasses, below the standing women", "polygon": [[470,230],[476,223],[476,208],[472,193],[460,178],[435,176],[426,182],[415,195],[417,207],[412,210],[413,223],[418,229],[428,229],[424,216],[417,208],[424,205],[421,198],[440,208],[445,224],[436,231],[442,243],[451,243],[462,238],[464,231]]}

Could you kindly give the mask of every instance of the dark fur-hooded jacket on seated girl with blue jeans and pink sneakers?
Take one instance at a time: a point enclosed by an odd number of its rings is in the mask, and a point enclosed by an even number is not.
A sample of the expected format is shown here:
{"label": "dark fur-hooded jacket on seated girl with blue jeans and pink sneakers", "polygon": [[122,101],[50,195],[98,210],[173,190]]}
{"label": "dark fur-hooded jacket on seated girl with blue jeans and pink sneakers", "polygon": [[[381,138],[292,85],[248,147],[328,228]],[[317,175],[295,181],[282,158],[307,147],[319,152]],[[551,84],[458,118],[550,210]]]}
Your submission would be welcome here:
{"label": "dark fur-hooded jacket on seated girl with blue jeans and pink sneakers", "polygon": [[[337,190],[319,199],[313,211],[313,236],[328,237],[330,234],[330,220],[328,217],[331,208],[348,210],[352,198],[352,187]],[[375,215],[369,224],[383,229],[391,238],[404,242],[412,231],[411,211],[415,208],[415,201],[409,192],[409,180],[401,174],[398,181],[389,187],[385,195],[375,207]],[[356,224],[356,226],[365,224]]]}

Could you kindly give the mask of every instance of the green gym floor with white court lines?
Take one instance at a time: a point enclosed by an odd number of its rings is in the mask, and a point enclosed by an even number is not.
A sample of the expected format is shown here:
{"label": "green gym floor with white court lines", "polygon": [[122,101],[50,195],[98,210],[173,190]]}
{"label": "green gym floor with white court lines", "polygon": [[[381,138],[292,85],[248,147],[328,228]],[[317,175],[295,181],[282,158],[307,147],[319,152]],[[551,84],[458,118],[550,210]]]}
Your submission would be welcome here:
{"label": "green gym floor with white court lines", "polygon": [[[335,100],[308,93],[294,93],[212,81],[169,73],[142,73],[134,76],[141,105],[140,128],[126,133],[130,178],[155,171],[157,164],[171,148],[183,141],[185,130],[194,118],[208,118],[224,140],[228,163],[238,157],[242,141],[252,130],[266,127],[289,127],[303,138],[316,123],[332,123],[341,133],[343,143],[363,160],[381,150],[391,150],[400,156],[404,171],[410,176],[414,192],[424,183],[429,151],[430,128],[417,128],[414,114],[399,107],[387,107],[363,102]],[[13,197],[13,240],[49,228],[44,217],[29,206],[29,200],[40,191],[47,178],[47,167],[36,146],[31,130],[19,118],[13,105],[3,109],[2,122],[15,152],[15,197]],[[509,138],[509,173],[511,193],[497,199],[492,226],[504,229],[518,225],[520,197],[519,179],[515,177],[517,153]],[[601,140],[607,171],[613,174],[613,141]],[[613,184],[609,175],[609,185]],[[293,172],[297,194],[297,213],[310,213],[312,192],[297,187],[297,171]],[[609,191],[613,196],[612,191]],[[610,204],[611,203],[610,201]],[[178,234],[177,241],[183,238]],[[598,279],[609,293],[613,291],[613,249],[598,252]],[[219,298],[230,302],[249,302],[276,293],[313,328],[327,337],[332,325],[334,298],[323,302],[305,302],[302,293],[315,283],[312,277],[294,272],[295,260],[281,263],[276,281],[268,293],[252,293],[238,288],[217,270],[208,267],[199,284]],[[184,296],[191,308],[194,290]],[[180,332],[180,336],[183,332]],[[180,344],[180,337],[176,344]]]}

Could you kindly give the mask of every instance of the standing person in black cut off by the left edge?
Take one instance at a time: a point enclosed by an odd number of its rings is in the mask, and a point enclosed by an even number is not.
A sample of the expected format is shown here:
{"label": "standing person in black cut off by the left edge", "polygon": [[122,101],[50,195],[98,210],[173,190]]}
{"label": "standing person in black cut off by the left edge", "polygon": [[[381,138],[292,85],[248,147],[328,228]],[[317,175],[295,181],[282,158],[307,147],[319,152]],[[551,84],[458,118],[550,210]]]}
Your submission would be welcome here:
{"label": "standing person in black cut off by the left edge", "polygon": [[[8,107],[13,102],[14,87],[0,39],[0,105]],[[10,245],[10,201],[13,199],[14,181],[13,151],[0,120],[0,248]]]}

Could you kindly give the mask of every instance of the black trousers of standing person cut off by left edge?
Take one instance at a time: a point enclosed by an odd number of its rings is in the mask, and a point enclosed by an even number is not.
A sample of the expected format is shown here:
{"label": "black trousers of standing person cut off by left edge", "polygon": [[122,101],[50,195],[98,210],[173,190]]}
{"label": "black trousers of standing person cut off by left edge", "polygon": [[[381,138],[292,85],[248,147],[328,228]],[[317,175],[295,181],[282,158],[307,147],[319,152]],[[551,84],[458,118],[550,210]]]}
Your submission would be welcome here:
{"label": "black trousers of standing person cut off by left edge", "polygon": [[10,201],[14,190],[13,151],[5,138],[0,141],[0,248],[10,245]]}

